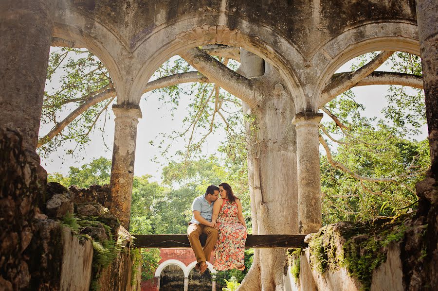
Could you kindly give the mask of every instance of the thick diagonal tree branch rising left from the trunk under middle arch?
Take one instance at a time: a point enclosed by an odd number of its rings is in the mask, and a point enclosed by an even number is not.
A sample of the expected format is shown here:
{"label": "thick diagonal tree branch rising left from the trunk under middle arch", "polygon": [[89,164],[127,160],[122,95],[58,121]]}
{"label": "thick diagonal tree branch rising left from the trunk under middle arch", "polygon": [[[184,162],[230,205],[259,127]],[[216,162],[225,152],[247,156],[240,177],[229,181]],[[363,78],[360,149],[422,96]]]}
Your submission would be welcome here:
{"label": "thick diagonal tree branch rising left from the trunk under middle arch", "polygon": [[248,103],[252,108],[263,98],[261,88],[198,48],[180,53],[191,66],[198,69],[211,82]]}

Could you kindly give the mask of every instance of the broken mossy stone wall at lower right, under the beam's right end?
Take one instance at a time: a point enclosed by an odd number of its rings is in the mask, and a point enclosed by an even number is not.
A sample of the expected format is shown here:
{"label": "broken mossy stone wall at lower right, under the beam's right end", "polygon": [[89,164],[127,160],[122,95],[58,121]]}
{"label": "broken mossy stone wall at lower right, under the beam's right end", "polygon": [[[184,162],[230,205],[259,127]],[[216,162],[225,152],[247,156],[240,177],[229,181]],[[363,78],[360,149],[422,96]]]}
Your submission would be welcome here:
{"label": "broken mossy stone wall at lower right, under the beam's right end", "polygon": [[434,290],[438,286],[438,183],[426,178],[417,184],[417,195],[415,214],[341,222],[309,235],[309,248],[297,250],[300,255],[292,255],[289,262],[286,290]]}

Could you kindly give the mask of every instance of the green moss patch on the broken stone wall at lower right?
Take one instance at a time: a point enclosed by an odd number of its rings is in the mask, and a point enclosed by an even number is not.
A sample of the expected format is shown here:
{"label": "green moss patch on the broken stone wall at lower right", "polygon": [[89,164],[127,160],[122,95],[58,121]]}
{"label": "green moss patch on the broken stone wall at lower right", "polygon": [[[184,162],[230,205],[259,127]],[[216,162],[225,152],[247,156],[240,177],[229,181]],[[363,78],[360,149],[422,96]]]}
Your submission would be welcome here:
{"label": "green moss patch on the broken stone wall at lower right", "polygon": [[386,261],[389,243],[404,238],[406,219],[379,217],[361,223],[327,225],[309,242],[310,265],[319,273],[345,267],[367,291],[373,271]]}

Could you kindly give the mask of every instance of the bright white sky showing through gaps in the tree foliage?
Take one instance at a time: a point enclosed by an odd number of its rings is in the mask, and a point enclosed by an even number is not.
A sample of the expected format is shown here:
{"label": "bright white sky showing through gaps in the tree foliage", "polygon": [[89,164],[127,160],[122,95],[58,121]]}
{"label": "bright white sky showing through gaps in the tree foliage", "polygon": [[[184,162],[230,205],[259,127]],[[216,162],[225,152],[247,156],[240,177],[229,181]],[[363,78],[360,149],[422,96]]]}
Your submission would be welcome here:
{"label": "bright white sky showing through gaps in the tree foliage", "polygon": [[[344,64],[338,69],[338,72],[350,70],[351,62]],[[384,67],[378,70],[385,70]],[[386,68],[387,70],[387,68]],[[50,87],[58,87],[59,76],[55,76],[53,81],[48,84]],[[385,106],[386,102],[384,96],[387,95],[388,86],[361,86],[353,88],[356,94],[357,101],[365,105],[365,116],[367,117],[383,117],[381,110]],[[147,100],[145,97],[148,96]],[[143,112],[143,118],[138,123],[137,133],[137,147],[134,174],[137,176],[150,174],[152,175],[151,181],[161,181],[161,163],[165,163],[165,159],[161,157],[159,149],[156,145],[150,145],[150,140],[156,140],[155,144],[161,141],[161,133],[171,133],[174,130],[181,130],[182,119],[185,116],[185,110],[190,100],[190,96],[181,98],[178,110],[175,112],[175,116],[170,116],[169,107],[166,104],[160,102],[158,94],[145,94],[140,103],[140,107]],[[171,105],[167,105],[171,106]],[[160,109],[159,109],[160,108]],[[67,115],[69,112],[65,112]],[[91,143],[85,148],[85,150],[79,153],[79,157],[72,157],[65,154],[64,149],[49,155],[48,158],[41,158],[41,164],[49,173],[60,172],[67,174],[71,166],[80,167],[85,163],[91,162],[92,159],[100,156],[111,159],[112,157],[112,143],[114,135],[114,115],[111,111],[111,119],[107,120],[105,126],[105,143],[109,147],[108,151],[102,139],[102,134],[99,130],[95,130],[91,135]],[[102,120],[101,120],[102,122]],[[40,129],[40,135],[46,134],[51,129],[51,126],[42,126]],[[214,154],[218,148],[218,144],[221,139],[225,137],[225,132],[217,131],[214,135],[210,135],[203,147],[203,154]],[[427,137],[426,125],[422,128],[422,134],[416,137],[418,140]],[[66,148],[72,148],[73,144],[66,145]],[[74,146],[73,146],[74,147]],[[171,152],[175,153],[178,150],[183,150],[184,144],[173,142]],[[156,155],[158,157],[158,163],[152,162],[151,159]]]}

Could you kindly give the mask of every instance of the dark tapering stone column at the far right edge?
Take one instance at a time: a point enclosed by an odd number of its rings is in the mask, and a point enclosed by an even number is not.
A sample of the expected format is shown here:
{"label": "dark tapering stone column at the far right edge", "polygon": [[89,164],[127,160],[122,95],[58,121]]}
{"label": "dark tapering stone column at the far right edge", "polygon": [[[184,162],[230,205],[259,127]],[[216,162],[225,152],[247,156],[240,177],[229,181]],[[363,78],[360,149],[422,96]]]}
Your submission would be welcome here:
{"label": "dark tapering stone column at the far right edge", "polygon": [[438,178],[438,4],[437,0],[417,0],[416,4],[431,171]]}

